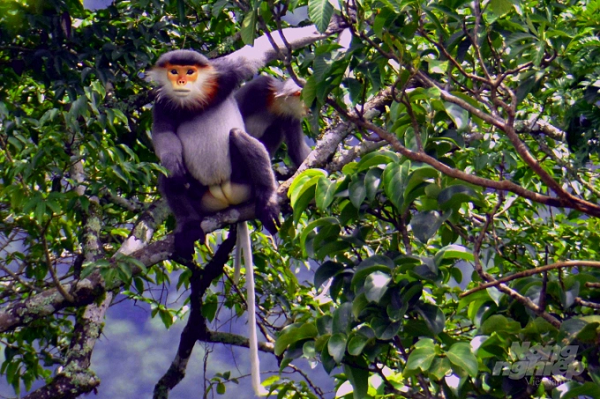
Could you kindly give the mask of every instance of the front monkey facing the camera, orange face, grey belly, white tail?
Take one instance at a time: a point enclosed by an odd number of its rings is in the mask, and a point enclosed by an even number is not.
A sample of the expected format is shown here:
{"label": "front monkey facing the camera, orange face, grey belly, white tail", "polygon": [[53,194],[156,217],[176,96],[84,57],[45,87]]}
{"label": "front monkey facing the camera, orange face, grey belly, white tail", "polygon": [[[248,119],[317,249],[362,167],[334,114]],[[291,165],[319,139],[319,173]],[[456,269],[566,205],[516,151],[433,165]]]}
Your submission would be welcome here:
{"label": "front monkey facing the camera, orange face, grey belly, white tail", "polygon": [[[272,234],[279,207],[269,154],[244,132],[233,90],[253,65],[227,58],[208,60],[189,50],[162,55],[150,71],[157,82],[152,141],[169,171],[160,188],[175,215],[175,256],[192,259],[194,243],[204,237],[202,218],[233,205],[254,201],[256,216]],[[252,385],[263,393],[258,365],[252,252],[246,222],[238,224],[247,275]]]}

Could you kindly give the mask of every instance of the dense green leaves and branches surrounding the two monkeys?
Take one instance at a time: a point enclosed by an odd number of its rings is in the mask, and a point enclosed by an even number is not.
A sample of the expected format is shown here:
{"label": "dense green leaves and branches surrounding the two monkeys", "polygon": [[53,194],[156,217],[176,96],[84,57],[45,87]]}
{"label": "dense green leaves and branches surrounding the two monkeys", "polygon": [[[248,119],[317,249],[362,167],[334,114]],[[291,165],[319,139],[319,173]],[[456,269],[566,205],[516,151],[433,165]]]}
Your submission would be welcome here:
{"label": "dense green leaves and branches surrounding the two monkeys", "polygon": [[[163,284],[200,292],[209,328],[224,308],[245,313],[243,290],[202,273],[223,231],[198,244],[197,270],[169,260],[143,73],[170,49],[231,53],[304,9],[321,31],[334,12],[324,0],[0,3],[0,372],[17,392],[102,390],[90,359],[115,298],[148,303],[166,327],[188,307],[148,294]],[[600,397],[599,11],[347,1],[341,40],[265,69],[306,82],[316,141],[281,181],[277,247],[253,233],[261,349],[282,370],[318,362],[335,397],[354,399]],[[274,162],[289,165],[283,151]],[[306,377],[267,388],[332,397]],[[234,379],[206,378],[206,397]]]}

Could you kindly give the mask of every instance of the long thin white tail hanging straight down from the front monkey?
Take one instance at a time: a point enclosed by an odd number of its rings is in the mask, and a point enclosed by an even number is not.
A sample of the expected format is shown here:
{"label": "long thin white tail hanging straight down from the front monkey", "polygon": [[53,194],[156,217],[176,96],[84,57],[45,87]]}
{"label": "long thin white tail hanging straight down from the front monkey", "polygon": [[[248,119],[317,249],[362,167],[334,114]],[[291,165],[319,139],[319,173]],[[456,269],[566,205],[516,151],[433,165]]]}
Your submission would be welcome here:
{"label": "long thin white tail hanging straight down from the front monkey", "polygon": [[[246,265],[246,303],[248,304],[248,335],[250,340],[250,369],[252,377],[252,388],[257,396],[263,396],[267,390],[260,383],[260,362],[258,360],[258,335],[256,332],[256,292],[254,289],[254,263],[252,262],[252,244],[250,233],[246,222],[238,223],[238,238],[236,249],[236,268],[241,263],[239,252],[243,251],[244,264]],[[238,261],[239,259],[239,261]],[[236,270],[237,271],[237,270]],[[239,279],[239,272],[237,272]],[[234,274],[235,281],[235,274]]]}

